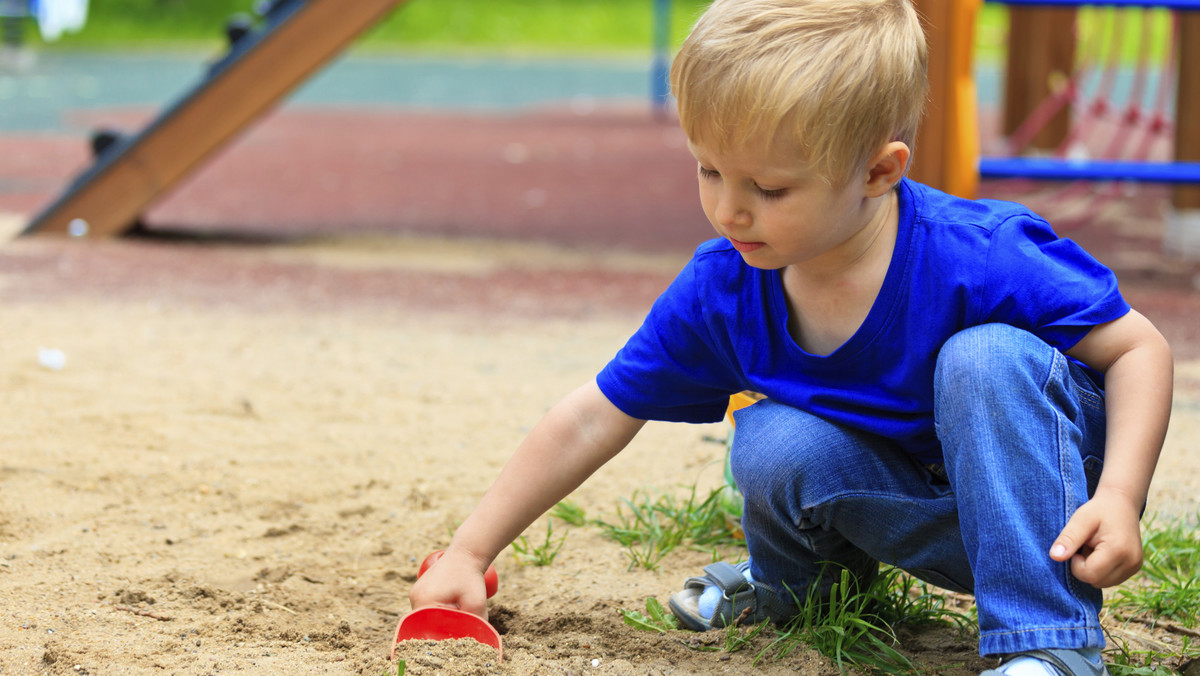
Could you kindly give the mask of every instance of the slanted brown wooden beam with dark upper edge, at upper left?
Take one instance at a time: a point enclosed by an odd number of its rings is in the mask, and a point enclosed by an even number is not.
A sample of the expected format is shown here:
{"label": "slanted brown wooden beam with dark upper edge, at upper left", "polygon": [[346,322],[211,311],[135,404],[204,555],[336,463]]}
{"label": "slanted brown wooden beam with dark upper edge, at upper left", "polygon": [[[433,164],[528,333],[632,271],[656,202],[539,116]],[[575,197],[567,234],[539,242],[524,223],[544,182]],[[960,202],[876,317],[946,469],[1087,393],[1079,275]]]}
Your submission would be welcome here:
{"label": "slanted brown wooden beam with dark upper edge, at upper left", "polygon": [[208,78],[91,168],[25,233],[107,237],[128,229],[157,198],[258,120],[402,0],[283,0]]}

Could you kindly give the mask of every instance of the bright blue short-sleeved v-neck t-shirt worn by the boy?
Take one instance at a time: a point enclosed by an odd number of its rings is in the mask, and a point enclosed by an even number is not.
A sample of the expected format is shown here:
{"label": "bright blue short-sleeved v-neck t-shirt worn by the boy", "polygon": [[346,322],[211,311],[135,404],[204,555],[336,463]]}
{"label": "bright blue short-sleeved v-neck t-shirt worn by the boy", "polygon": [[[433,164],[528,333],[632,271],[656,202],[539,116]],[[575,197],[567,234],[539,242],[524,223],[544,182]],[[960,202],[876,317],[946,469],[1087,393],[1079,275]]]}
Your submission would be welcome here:
{"label": "bright blue short-sleeved v-neck t-shirt worn by the boy", "polygon": [[828,355],[787,331],[779,270],[704,243],[596,377],[641,419],[715,423],[742,390],[895,441],[940,462],[934,366],[966,328],[1004,323],[1067,351],[1129,305],[1116,276],[1019,204],[967,201],[905,180],[883,286],[853,336]]}

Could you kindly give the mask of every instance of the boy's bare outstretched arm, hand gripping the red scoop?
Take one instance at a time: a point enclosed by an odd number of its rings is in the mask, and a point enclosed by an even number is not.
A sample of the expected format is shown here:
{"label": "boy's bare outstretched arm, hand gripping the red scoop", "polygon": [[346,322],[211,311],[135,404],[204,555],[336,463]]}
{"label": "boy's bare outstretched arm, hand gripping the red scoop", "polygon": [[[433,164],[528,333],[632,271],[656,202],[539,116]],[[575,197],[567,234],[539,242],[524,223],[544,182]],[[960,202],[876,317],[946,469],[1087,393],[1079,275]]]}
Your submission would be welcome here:
{"label": "boy's bare outstretched arm, hand gripping the red scoop", "polygon": [[590,382],[554,405],[409,592],[413,609],[444,605],[487,616],[484,570],[535,519],[617,455],[646,420],[631,418]]}

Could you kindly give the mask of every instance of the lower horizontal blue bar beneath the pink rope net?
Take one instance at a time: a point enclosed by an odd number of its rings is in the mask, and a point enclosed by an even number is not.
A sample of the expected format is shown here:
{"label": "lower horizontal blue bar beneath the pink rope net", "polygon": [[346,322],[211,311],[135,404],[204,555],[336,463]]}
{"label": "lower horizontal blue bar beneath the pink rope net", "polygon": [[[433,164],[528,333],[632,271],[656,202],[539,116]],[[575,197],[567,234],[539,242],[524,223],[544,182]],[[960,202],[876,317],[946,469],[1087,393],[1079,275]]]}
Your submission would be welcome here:
{"label": "lower horizontal blue bar beneath the pink rope net", "polygon": [[980,157],[979,175],[988,179],[1200,184],[1200,162]]}

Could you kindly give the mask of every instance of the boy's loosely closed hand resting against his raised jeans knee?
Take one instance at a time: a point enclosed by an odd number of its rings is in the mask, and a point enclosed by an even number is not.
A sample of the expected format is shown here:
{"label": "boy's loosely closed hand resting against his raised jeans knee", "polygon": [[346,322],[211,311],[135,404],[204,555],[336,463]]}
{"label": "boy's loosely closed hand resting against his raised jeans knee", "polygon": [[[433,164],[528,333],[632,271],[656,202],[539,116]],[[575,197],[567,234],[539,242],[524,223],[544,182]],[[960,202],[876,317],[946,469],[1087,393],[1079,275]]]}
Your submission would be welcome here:
{"label": "boy's loosely closed hand resting against his raised jeans knee", "polygon": [[1096,492],[1050,548],[1050,558],[1070,560],[1079,580],[1103,588],[1120,585],[1141,568],[1140,507],[1120,495]]}

